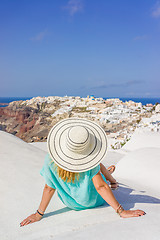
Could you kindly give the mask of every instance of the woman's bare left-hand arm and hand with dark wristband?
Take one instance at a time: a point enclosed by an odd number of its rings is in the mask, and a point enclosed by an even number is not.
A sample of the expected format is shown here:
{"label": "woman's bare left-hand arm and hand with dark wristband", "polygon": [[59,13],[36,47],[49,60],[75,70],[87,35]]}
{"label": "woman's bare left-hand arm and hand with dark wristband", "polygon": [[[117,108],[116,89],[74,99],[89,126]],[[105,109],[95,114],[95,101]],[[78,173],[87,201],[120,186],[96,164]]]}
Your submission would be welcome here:
{"label": "woman's bare left-hand arm and hand with dark wristband", "polygon": [[[38,211],[40,213],[43,214],[45,212],[45,210],[46,210],[46,208],[47,208],[47,206],[48,206],[48,204],[49,204],[49,202],[50,202],[54,192],[55,192],[54,188],[51,188],[47,184],[45,184],[44,189],[43,189],[42,199],[41,199],[41,202],[40,202],[40,205],[39,205],[39,208],[38,208]],[[36,212],[34,214],[31,214],[27,218],[25,218],[20,223],[20,226],[22,227],[24,225],[40,221],[41,218],[42,218],[42,216],[39,213]]]}

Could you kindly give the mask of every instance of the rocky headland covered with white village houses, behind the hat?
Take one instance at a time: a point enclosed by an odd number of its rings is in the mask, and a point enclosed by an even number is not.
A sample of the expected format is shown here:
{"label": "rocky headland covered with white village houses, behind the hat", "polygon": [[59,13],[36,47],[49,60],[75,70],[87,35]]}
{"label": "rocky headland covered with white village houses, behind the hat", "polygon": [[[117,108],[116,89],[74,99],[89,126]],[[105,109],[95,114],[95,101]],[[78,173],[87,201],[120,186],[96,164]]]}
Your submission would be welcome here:
{"label": "rocky headland covered with white village houses, behind the hat", "polygon": [[46,141],[51,127],[67,117],[80,117],[100,124],[108,138],[110,148],[119,149],[130,140],[136,128],[143,131],[160,131],[160,104],[134,101],[122,102],[119,98],[103,99],[87,96],[33,97],[14,101],[0,109],[0,127],[26,142]]}

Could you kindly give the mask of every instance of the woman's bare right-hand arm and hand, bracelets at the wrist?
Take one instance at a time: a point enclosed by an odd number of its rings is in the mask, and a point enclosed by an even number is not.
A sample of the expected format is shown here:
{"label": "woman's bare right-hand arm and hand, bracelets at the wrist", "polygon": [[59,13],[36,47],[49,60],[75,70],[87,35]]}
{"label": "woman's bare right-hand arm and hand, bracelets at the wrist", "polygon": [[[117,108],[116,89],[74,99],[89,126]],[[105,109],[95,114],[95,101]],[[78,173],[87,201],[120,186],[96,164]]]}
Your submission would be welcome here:
{"label": "woman's bare right-hand arm and hand, bracelets at the wrist", "polygon": [[[97,192],[101,195],[101,197],[116,211],[119,202],[114,197],[114,194],[112,193],[112,190],[108,186],[108,184],[103,180],[101,173],[98,172],[93,178],[92,178],[93,184],[97,190]],[[124,210],[120,216],[123,218],[128,217],[138,217],[144,215],[145,212],[142,210]]]}

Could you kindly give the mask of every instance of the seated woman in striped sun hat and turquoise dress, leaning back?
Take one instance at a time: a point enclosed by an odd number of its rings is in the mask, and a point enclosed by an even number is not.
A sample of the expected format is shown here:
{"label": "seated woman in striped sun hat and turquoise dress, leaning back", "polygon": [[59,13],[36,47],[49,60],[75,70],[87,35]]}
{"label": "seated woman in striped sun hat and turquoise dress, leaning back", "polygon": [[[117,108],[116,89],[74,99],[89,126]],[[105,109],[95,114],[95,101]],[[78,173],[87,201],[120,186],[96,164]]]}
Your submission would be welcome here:
{"label": "seated woman in striped sun hat and turquoise dress, leaning back", "polygon": [[47,147],[40,171],[46,182],[41,203],[20,226],[41,220],[55,190],[61,201],[74,210],[107,202],[123,218],[145,214],[142,210],[124,210],[115,199],[111,188],[116,189],[118,183],[111,175],[114,166],[107,170],[101,163],[107,152],[107,137],[98,124],[81,118],[64,119],[50,130]]}

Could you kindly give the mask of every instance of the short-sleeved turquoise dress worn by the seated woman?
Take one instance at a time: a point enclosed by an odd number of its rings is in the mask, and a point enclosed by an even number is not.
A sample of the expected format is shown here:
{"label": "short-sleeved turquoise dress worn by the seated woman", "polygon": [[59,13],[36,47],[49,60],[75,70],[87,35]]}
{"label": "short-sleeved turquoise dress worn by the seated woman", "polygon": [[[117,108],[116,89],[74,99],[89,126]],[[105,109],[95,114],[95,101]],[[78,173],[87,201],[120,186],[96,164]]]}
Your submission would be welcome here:
{"label": "short-sleeved turquoise dress worn by the seated woman", "polygon": [[[100,170],[100,165],[89,171],[80,173],[79,179],[75,179],[74,183],[63,181],[58,176],[54,167],[54,162],[48,153],[40,174],[44,177],[49,187],[57,190],[58,197],[67,207],[74,210],[83,210],[98,207],[105,203],[105,200],[96,191],[92,182],[92,178]],[[107,182],[103,174],[101,175],[105,182]]]}

